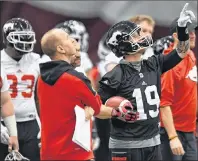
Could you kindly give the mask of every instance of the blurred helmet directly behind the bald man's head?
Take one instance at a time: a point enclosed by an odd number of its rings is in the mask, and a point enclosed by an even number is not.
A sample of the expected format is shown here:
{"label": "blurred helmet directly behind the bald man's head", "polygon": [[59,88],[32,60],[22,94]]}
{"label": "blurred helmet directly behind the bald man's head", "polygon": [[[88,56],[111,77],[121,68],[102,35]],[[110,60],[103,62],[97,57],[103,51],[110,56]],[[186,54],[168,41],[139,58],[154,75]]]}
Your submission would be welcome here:
{"label": "blurred helmet directly behind the bald man's head", "polygon": [[80,43],[81,51],[87,52],[89,48],[89,34],[85,25],[76,20],[69,20],[62,23],[59,23],[55,28],[61,28],[66,31],[72,38]]}

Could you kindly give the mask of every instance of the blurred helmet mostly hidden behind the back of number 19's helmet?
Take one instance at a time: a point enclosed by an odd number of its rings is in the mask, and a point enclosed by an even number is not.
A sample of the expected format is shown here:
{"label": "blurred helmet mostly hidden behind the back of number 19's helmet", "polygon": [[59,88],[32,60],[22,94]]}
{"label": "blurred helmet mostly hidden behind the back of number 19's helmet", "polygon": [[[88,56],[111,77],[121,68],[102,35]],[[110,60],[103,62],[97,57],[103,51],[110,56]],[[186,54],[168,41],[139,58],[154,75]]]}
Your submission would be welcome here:
{"label": "blurred helmet mostly hidden behind the back of number 19's helmet", "polygon": [[106,43],[107,33],[101,38],[98,44],[98,57],[100,60],[104,60],[105,57],[111,52],[111,49],[108,47]]}

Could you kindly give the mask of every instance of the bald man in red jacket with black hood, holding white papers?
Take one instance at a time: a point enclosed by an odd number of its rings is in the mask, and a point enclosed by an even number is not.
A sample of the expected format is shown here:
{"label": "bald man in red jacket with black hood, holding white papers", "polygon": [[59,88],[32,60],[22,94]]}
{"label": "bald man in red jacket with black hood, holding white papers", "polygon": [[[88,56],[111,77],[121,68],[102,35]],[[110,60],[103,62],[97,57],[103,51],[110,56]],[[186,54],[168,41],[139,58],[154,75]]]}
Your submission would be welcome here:
{"label": "bald man in red jacket with black hood, holding white papers", "polygon": [[91,160],[94,158],[92,151],[87,152],[72,142],[76,123],[74,107],[92,107],[94,114],[102,119],[112,116],[126,118],[130,114],[125,105],[119,107],[125,112],[102,105],[89,79],[74,70],[71,64],[79,56],[80,46],[65,31],[48,31],[42,37],[41,47],[52,60],[40,65],[41,77],[38,80],[41,159]]}

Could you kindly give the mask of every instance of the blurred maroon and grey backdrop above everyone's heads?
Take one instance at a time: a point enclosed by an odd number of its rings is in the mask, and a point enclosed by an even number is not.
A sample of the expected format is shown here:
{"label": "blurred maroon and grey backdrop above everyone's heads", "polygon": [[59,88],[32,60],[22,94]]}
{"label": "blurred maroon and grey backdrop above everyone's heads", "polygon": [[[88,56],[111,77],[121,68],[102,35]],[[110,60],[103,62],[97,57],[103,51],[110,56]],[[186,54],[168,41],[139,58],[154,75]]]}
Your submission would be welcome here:
{"label": "blurred maroon and grey backdrop above everyone's heads", "polygon": [[[14,17],[29,20],[36,32],[35,52],[41,54],[40,39],[46,31],[66,20],[80,20],[89,32],[88,53],[96,63],[98,42],[112,24],[137,14],[150,15],[156,21],[156,40],[169,35],[171,22],[186,2],[197,17],[197,1],[0,1],[0,27]],[[1,49],[2,45],[1,41]],[[197,45],[194,51],[197,54]]]}

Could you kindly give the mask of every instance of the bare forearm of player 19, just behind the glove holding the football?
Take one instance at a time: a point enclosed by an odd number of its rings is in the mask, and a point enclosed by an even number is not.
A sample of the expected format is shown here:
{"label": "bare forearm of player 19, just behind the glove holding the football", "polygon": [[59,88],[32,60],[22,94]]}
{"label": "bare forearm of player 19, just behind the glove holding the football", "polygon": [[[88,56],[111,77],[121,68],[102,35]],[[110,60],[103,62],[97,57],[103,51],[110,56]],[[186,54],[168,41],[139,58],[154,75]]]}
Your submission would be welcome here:
{"label": "bare forearm of player 19, just behind the glove holding the football", "polygon": [[109,119],[112,117],[113,108],[102,105],[100,108],[100,113],[96,116],[99,119]]}

